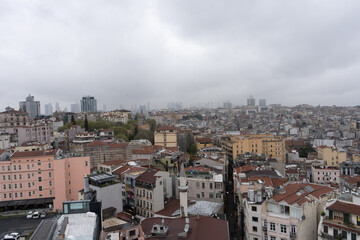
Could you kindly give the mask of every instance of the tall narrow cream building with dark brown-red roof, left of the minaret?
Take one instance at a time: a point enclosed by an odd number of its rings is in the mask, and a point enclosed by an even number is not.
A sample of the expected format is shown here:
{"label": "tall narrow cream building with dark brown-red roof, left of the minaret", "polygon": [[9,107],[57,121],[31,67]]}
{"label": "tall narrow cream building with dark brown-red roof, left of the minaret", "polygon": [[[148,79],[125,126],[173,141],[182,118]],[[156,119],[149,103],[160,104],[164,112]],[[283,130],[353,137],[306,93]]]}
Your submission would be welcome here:
{"label": "tall narrow cream building with dark brown-red roof, left of the minaret", "polygon": [[164,208],[165,198],[172,196],[172,181],[168,172],[149,169],[135,180],[136,213],[152,217]]}

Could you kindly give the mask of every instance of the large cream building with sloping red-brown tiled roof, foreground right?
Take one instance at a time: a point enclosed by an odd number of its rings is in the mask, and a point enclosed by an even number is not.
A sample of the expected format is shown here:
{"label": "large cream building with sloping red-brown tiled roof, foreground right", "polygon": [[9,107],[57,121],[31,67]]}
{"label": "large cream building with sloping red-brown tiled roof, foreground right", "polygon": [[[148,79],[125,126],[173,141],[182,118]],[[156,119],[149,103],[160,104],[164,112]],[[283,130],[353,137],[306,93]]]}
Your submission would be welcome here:
{"label": "large cream building with sloping red-brown tiled roof, foreground right", "polygon": [[309,183],[280,188],[262,206],[264,239],[316,239],[320,213],[334,191]]}

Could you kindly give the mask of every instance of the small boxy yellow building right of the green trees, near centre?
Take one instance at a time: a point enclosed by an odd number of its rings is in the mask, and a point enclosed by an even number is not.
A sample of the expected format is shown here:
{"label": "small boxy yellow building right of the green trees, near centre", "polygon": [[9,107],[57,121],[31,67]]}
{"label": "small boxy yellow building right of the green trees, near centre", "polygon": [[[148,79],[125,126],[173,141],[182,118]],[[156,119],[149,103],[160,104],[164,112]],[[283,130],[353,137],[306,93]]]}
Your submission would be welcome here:
{"label": "small boxy yellow building right of the green trees, near centre", "polygon": [[163,147],[177,147],[177,133],[178,129],[174,127],[165,126],[155,129],[155,145]]}

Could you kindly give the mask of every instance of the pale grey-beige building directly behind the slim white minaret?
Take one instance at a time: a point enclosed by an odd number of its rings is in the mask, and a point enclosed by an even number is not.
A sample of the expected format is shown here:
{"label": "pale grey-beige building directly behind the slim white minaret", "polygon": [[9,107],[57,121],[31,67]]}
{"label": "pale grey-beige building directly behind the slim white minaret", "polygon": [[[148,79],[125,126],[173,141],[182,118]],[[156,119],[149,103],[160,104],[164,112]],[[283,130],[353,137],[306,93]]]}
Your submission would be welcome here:
{"label": "pale grey-beige building directly behind the slim white minaret", "polygon": [[[209,202],[224,201],[223,175],[210,171],[207,167],[185,168],[189,200]],[[180,178],[177,179],[176,198],[180,198]]]}

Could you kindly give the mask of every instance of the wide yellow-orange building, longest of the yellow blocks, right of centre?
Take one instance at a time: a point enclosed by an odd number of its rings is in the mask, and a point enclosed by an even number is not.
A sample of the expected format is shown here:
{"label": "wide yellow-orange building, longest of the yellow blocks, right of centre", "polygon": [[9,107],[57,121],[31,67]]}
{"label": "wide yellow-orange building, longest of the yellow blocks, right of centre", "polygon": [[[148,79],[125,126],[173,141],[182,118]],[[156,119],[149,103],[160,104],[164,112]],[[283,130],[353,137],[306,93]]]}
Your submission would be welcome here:
{"label": "wide yellow-orange building, longest of the yellow blocks, right of centre", "polygon": [[239,154],[264,154],[285,162],[285,138],[271,134],[229,136],[222,139],[222,147],[235,159]]}

